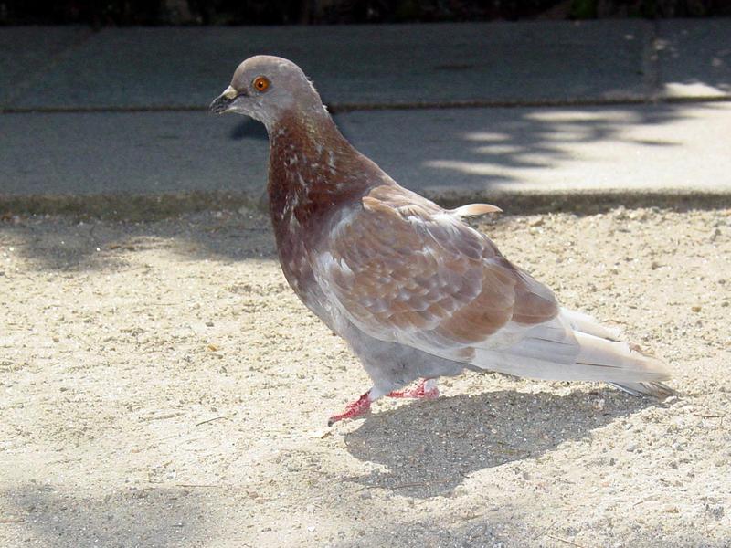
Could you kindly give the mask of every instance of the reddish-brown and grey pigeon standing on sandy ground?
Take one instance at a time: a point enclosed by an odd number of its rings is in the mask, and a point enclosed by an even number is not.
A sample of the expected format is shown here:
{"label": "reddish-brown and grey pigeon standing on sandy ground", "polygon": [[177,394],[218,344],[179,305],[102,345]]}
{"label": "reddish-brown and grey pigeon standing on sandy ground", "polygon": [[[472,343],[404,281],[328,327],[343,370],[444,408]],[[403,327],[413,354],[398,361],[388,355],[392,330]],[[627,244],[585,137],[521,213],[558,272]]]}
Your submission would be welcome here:
{"label": "reddish-brown and grey pigeon standing on sandy ground", "polygon": [[245,60],[210,111],[266,126],[282,272],[373,381],[330,425],[365,414],[384,395],[437,397],[437,378],[465,369],[673,394],[660,359],[561,307],[465,222],[499,208],[444,209],[398,185],[344,138],[291,61]]}

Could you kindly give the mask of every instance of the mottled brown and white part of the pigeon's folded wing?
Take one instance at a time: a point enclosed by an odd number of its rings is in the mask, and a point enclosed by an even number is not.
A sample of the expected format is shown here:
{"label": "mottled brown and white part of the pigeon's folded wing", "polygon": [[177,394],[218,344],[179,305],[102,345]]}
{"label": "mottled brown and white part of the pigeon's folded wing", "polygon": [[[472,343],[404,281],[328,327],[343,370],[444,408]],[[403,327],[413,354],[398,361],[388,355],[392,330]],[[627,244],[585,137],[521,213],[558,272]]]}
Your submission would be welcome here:
{"label": "mottled brown and white part of the pigeon's folded wing", "polygon": [[388,187],[361,204],[333,228],[317,276],[367,334],[473,362],[558,314],[550,290],[437,205]]}

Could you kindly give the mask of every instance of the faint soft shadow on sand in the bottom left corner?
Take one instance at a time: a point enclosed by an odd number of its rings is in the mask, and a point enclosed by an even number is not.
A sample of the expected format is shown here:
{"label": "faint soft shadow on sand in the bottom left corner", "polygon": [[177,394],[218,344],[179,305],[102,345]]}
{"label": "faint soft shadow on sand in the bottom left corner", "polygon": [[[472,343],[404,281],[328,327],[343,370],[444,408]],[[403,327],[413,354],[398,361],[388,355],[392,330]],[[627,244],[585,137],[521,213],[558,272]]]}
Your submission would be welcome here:
{"label": "faint soft shadow on sand in the bottom left corner", "polygon": [[18,521],[11,526],[22,531],[18,538],[49,548],[172,548],[211,541],[215,535],[207,524],[206,501],[184,488],[132,488],[86,497],[27,484],[6,490],[3,497],[11,501],[5,511],[13,511]]}

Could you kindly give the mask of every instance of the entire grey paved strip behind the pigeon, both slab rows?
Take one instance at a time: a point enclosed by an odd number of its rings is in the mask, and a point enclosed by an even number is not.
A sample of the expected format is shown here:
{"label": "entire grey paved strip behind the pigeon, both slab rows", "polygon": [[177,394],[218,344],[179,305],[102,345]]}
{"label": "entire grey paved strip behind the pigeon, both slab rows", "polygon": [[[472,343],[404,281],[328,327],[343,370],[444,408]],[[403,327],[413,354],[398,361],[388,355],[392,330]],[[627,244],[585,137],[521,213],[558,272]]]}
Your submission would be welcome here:
{"label": "entire grey paved strip behind the pigeon, both slab rows", "polygon": [[1,28],[0,195],[258,195],[263,130],[204,110],[262,52],[301,64],[355,145],[421,192],[731,194],[715,19]]}

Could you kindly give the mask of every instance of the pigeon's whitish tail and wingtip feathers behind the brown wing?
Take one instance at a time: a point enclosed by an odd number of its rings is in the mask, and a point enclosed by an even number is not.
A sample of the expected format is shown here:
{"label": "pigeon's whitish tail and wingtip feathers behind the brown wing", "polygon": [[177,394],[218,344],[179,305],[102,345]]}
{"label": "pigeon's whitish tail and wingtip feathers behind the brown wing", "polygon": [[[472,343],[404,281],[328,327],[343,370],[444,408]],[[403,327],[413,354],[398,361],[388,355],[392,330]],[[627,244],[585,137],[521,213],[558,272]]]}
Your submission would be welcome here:
{"label": "pigeon's whitish tail and wingtip feathers behind the brown wing", "polygon": [[620,341],[619,332],[574,311],[562,310],[510,348],[479,349],[471,364],[538,379],[605,382],[634,395],[673,394],[661,382],[670,378],[661,360]]}

